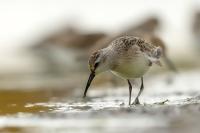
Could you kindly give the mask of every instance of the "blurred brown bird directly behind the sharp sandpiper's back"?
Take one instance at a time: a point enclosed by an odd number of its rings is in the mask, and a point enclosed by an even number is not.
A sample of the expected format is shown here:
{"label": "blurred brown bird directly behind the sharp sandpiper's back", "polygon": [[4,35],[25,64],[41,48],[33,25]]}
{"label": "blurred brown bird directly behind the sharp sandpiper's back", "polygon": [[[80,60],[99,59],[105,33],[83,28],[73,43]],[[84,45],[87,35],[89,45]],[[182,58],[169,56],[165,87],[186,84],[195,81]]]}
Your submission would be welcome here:
{"label": "blurred brown bird directly behind the sharp sandpiper's back", "polygon": [[91,51],[95,51],[101,48],[106,47],[114,38],[123,36],[123,35],[132,35],[136,37],[140,37],[145,39],[147,42],[155,45],[160,46],[163,49],[163,61],[168,66],[168,68],[174,72],[177,72],[177,69],[173,62],[169,59],[167,55],[167,46],[163,42],[163,40],[156,35],[156,31],[160,27],[160,21],[156,17],[150,17],[146,19],[144,22],[141,22],[137,26],[132,26],[125,30],[122,33],[119,33],[119,35],[116,36],[108,36],[106,38],[103,38],[99,40],[94,47],[91,48]]}

